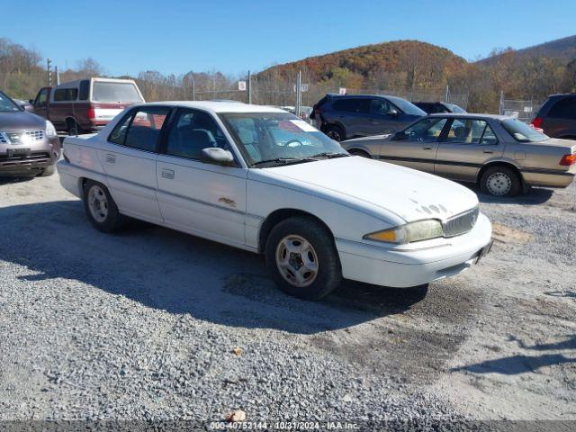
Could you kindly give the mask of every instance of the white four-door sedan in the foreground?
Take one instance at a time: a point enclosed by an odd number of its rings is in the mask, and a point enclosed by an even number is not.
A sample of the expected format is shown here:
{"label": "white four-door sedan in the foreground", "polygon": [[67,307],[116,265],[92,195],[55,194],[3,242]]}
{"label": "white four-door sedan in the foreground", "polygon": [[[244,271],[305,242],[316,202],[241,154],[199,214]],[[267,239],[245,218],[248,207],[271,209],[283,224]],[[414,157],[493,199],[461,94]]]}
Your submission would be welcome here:
{"label": "white four-door sedan in the foreground", "polygon": [[96,229],[127,216],[264,254],[286,293],[345,277],[409,287],[457,275],[491,247],[475,193],[347,154],[293,114],[229,102],[132,105],[68,137],[60,183]]}

